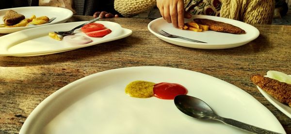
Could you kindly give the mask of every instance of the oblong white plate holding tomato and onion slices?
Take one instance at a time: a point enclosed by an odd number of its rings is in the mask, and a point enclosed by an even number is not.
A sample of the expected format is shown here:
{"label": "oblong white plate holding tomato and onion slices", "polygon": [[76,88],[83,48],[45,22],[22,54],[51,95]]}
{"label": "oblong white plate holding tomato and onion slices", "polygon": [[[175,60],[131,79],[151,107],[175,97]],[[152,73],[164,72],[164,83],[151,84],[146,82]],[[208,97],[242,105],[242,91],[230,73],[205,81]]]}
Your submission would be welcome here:
{"label": "oblong white plate holding tomato and onion slices", "polygon": [[86,36],[93,40],[92,43],[74,45],[65,41],[54,40],[49,37],[50,31],[66,31],[79,26],[86,21],[62,23],[34,29],[22,30],[0,37],[0,56],[37,56],[74,50],[86,46],[97,45],[104,42],[118,40],[129,36],[132,31],[123,29],[119,24],[109,21],[97,21],[112,32],[104,37],[89,37],[81,31],[75,30],[75,35]]}

